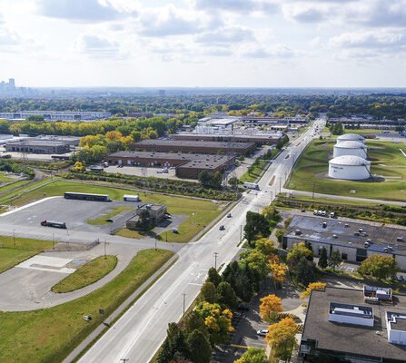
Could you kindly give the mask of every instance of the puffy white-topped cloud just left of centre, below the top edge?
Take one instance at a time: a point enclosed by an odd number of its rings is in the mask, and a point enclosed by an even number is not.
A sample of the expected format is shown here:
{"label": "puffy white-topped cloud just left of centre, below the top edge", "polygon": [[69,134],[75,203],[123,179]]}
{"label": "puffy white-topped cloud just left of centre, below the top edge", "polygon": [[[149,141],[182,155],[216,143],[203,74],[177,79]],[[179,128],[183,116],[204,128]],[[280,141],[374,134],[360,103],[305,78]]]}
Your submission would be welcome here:
{"label": "puffy white-topped cloud just left of centre, below the top edge", "polygon": [[139,33],[144,36],[170,36],[196,34],[211,26],[221,25],[219,18],[202,18],[193,12],[177,9],[173,5],[144,9],[138,19]]}

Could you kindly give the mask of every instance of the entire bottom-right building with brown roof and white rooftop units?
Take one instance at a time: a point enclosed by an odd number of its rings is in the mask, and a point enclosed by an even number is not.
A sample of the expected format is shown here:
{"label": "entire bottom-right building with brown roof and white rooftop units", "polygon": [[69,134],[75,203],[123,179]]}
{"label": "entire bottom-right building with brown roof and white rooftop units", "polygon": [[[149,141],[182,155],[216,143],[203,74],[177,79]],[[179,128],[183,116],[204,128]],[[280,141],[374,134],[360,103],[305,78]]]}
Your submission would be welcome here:
{"label": "entire bottom-right building with brown roof and white rooftop units", "polygon": [[299,361],[401,363],[406,361],[406,296],[367,302],[361,289],[312,290]]}

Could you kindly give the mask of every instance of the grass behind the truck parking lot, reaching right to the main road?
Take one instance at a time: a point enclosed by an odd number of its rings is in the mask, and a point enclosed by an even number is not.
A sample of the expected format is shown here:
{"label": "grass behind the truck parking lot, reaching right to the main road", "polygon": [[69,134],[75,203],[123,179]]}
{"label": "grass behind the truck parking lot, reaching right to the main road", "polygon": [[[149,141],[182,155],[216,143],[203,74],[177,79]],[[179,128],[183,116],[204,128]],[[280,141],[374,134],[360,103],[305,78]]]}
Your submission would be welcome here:
{"label": "grass behind the truck parking lot, reaching right to the main road", "polygon": [[[14,201],[14,205],[24,205],[31,201],[37,201],[45,196],[51,197],[55,195],[64,195],[64,191],[79,191],[99,194],[109,194],[111,199],[123,200],[124,194],[128,194],[128,190],[104,187],[99,185],[87,185],[79,182],[57,181],[48,183],[35,189],[21,193],[21,196]],[[31,189],[31,186],[30,186]],[[138,192],[142,201],[164,204],[171,214],[183,214],[189,216],[186,221],[179,226],[178,234],[173,234],[170,242],[188,242],[193,236],[202,231],[214,218],[216,218],[225,208],[227,203],[215,203],[213,201],[204,201],[193,198],[182,198],[172,195],[158,194],[151,191]],[[4,196],[3,198],[6,198]],[[0,199],[1,204],[1,199]],[[105,216],[104,216],[105,217]],[[104,218],[103,217],[103,218]],[[169,235],[169,233],[168,233]]]}

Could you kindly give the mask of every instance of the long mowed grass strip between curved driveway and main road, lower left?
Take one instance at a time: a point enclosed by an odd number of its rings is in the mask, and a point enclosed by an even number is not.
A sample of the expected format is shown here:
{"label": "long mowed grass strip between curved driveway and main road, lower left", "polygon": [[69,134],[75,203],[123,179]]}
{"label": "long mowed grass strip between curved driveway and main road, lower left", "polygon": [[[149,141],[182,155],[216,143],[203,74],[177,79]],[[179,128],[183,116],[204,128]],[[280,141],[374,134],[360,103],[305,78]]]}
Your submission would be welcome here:
{"label": "long mowed grass strip between curved driveway and main road, lower left", "polygon": [[[142,250],[114,280],[83,298],[50,309],[0,312],[0,361],[63,361],[172,256],[173,252],[168,250]],[[104,316],[98,316],[99,309],[104,309]],[[93,317],[89,322],[83,319],[87,314]]]}

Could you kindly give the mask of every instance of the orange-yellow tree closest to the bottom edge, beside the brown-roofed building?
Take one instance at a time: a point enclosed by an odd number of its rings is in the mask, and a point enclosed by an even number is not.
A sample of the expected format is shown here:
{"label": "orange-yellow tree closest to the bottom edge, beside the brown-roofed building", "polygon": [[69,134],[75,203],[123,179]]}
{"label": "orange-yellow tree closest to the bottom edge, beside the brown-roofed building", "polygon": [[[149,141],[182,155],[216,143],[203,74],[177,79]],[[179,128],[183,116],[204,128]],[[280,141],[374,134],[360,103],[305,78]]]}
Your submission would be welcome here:
{"label": "orange-yellow tree closest to the bottom edge, beside the brown-roofed building", "polygon": [[265,340],[272,346],[277,358],[288,360],[296,346],[297,326],[292,318],[284,318],[268,327]]}

